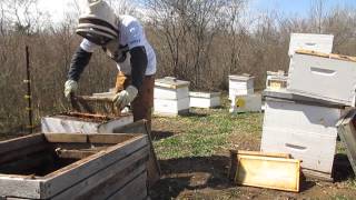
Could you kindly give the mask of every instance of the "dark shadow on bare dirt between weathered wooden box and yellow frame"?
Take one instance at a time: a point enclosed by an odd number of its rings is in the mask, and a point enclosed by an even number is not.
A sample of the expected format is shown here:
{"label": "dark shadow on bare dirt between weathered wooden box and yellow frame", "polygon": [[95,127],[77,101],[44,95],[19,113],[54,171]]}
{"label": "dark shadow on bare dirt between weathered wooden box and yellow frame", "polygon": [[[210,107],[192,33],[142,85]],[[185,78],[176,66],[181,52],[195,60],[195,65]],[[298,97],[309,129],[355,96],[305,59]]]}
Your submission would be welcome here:
{"label": "dark shadow on bare dirt between weathered wooden box and yellow frame", "polygon": [[192,157],[159,161],[162,178],[150,191],[152,199],[177,198],[185,190],[228,189],[228,157]]}

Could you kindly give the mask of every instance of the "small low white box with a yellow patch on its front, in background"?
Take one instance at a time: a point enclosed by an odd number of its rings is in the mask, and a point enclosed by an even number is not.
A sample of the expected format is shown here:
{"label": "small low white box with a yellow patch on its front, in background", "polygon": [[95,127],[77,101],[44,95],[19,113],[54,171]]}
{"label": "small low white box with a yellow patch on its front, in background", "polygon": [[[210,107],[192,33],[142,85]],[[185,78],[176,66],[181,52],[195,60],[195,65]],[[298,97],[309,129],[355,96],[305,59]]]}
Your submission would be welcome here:
{"label": "small low white box with a yellow patch on its front, in background", "polygon": [[261,94],[236,96],[231,101],[230,112],[260,112],[263,106]]}

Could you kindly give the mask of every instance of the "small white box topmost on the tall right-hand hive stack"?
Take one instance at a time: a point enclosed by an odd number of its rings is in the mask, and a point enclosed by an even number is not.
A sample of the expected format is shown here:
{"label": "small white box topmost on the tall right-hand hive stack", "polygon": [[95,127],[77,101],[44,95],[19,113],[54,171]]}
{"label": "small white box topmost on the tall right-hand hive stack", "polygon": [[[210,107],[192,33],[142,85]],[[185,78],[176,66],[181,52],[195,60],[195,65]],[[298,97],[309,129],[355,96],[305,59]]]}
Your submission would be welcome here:
{"label": "small white box topmost on the tall right-hand hive stack", "polygon": [[293,56],[300,49],[332,53],[333,41],[333,34],[291,33],[288,54]]}

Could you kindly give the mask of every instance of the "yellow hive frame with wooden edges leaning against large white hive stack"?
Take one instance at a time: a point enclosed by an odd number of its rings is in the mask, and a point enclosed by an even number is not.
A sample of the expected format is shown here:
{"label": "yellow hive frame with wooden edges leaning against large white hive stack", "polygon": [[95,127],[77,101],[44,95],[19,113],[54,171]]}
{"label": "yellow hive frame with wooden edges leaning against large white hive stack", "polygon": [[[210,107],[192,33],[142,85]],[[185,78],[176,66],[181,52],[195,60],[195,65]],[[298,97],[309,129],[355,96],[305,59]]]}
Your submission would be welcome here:
{"label": "yellow hive frame with wooden edges leaning against large white hive stack", "polygon": [[299,192],[299,160],[240,154],[237,162],[238,184]]}

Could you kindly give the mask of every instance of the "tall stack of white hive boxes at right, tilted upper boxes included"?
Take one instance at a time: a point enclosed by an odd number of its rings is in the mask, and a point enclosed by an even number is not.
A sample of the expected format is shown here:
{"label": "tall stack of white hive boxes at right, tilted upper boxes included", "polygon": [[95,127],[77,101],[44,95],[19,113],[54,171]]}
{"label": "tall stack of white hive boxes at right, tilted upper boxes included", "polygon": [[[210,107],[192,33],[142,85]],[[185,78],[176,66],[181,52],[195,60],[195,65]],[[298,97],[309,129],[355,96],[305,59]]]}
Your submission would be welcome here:
{"label": "tall stack of white hive boxes at right, tilted upper boxes included", "polygon": [[336,123],[355,106],[356,59],[330,54],[333,36],[291,34],[286,90],[264,91],[261,151],[303,160],[307,176],[332,180]]}

